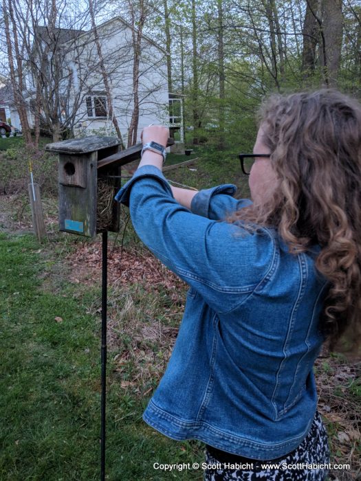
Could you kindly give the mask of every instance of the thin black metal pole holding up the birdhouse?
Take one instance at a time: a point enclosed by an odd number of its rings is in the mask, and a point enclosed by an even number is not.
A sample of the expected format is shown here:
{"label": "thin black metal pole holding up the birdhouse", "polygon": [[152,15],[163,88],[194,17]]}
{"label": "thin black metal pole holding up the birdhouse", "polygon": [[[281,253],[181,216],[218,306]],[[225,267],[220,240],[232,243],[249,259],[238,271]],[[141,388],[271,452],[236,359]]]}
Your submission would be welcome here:
{"label": "thin black metal pole holding up the birdhouse", "polygon": [[108,232],[102,232],[102,397],[100,401],[100,480],[105,481],[105,401],[107,394],[107,270]]}

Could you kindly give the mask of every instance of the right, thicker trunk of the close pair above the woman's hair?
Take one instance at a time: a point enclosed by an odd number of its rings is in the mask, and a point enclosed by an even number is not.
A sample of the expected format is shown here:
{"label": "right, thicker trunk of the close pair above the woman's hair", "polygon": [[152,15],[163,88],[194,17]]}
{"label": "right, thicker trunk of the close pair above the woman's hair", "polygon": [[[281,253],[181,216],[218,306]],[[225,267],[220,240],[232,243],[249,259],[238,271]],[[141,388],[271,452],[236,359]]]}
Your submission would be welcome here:
{"label": "right, thicker trunk of the close pair above the woman's hair", "polygon": [[342,48],[342,0],[323,0],[322,30],[325,36],[325,69],[329,86],[337,86]]}

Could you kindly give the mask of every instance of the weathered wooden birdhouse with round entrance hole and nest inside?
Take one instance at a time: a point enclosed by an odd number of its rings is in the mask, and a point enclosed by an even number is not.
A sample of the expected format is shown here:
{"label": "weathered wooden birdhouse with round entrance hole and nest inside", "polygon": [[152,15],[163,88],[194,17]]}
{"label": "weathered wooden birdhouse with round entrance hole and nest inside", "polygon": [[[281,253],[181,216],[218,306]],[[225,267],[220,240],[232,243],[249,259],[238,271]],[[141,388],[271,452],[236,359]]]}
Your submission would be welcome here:
{"label": "weathered wooden birdhouse with round entrance hole and nest inside", "polygon": [[118,153],[115,137],[92,136],[47,144],[58,153],[59,228],[94,237],[105,230],[119,231],[120,205],[114,196],[120,188],[120,166],[98,164]]}

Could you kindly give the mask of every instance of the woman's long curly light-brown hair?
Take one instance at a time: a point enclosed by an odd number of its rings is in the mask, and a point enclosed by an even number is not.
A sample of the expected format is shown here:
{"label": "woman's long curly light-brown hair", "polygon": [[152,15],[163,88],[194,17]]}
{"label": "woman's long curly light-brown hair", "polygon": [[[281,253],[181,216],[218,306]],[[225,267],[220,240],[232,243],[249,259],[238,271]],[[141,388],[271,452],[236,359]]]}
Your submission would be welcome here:
{"label": "woman's long curly light-brown hair", "polygon": [[277,188],[229,222],[276,227],[292,253],[321,248],[316,269],[329,281],[320,326],[331,348],[351,329],[360,341],[361,105],[322,89],[275,95],[259,111]]}

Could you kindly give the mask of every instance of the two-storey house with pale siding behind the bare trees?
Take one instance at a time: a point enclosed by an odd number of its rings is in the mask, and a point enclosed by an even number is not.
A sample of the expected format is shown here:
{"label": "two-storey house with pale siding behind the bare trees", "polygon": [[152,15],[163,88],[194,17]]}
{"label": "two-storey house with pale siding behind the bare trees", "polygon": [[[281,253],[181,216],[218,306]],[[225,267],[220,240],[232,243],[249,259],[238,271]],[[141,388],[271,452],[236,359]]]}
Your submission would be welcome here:
{"label": "two-storey house with pale siding behind the bare trees", "polygon": [[[54,34],[54,32],[52,32]],[[138,117],[136,139],[140,140],[142,128],[152,123],[167,124],[172,134],[178,131],[179,142],[184,142],[183,100],[168,92],[166,51],[148,36],[142,36],[138,75],[134,74],[134,36],[137,31],[117,16],[94,30],[56,29],[56,52],[63,54],[58,60],[62,74],[58,80],[59,112],[62,122],[68,122],[75,136],[116,135],[113,120],[109,117],[108,96],[102,76],[102,63],[96,39],[104,60],[104,69],[110,86],[113,115],[118,121],[124,144],[127,144],[132,118]],[[37,27],[39,52],[49,45],[51,36],[46,27]],[[55,62],[54,49],[47,53],[49,67]],[[58,57],[60,58],[60,57]],[[134,102],[134,76],[138,81],[138,109]],[[28,102],[34,102],[36,79],[30,69],[26,76]],[[42,112],[41,112],[42,114]],[[30,125],[34,115],[30,112]]]}

